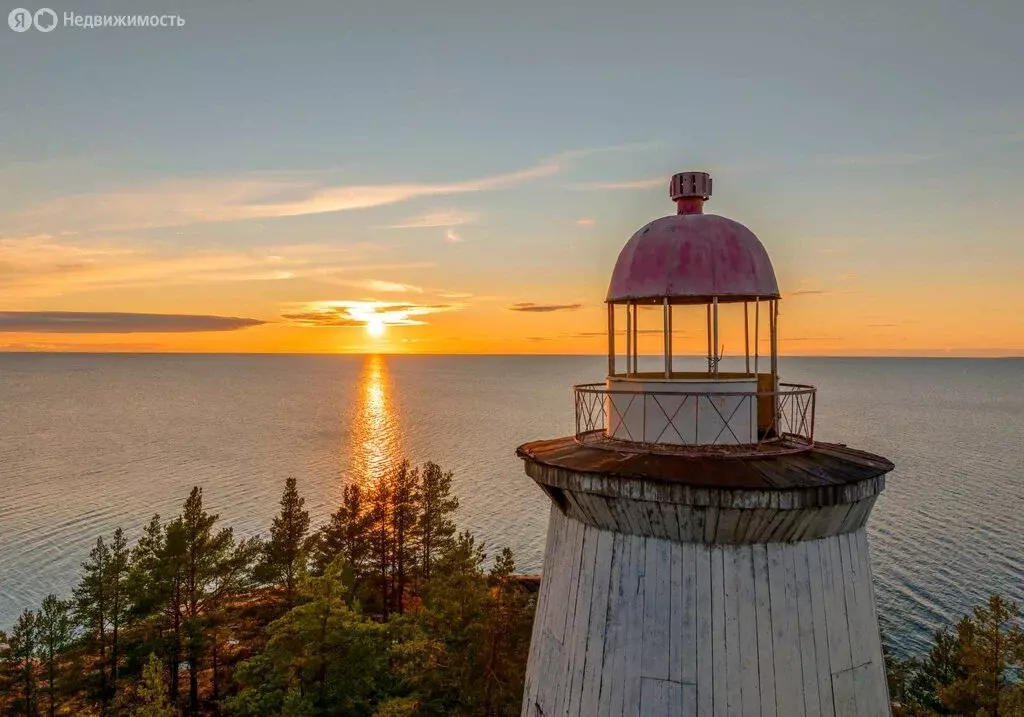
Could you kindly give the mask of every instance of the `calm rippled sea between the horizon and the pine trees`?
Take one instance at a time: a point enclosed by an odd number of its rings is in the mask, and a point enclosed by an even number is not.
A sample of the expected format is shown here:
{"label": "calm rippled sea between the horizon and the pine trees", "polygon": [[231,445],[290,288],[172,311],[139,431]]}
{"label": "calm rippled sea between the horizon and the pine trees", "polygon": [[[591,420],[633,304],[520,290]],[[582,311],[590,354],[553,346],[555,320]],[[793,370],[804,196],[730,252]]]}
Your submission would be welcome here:
{"label": "calm rippled sea between the horizon and the pine trees", "polygon": [[[460,522],[539,570],[547,502],[513,452],[572,427],[601,357],[0,354],[0,627],[63,594],[99,534],[194,484],[242,534],[285,478],[315,520],[399,456],[455,471]],[[869,524],[904,650],[993,590],[1024,599],[1024,361],[788,358],[816,431],[897,465]]]}

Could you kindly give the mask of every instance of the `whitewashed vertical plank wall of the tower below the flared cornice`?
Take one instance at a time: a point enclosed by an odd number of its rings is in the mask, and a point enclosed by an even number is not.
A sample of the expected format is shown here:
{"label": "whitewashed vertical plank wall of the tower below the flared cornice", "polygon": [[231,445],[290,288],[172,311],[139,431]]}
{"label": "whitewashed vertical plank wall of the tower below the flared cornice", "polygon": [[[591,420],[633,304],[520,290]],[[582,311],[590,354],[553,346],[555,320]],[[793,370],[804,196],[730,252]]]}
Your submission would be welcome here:
{"label": "whitewashed vertical plank wall of the tower below the flared cornice", "polygon": [[522,714],[878,717],[864,531],[708,545],[551,514]]}

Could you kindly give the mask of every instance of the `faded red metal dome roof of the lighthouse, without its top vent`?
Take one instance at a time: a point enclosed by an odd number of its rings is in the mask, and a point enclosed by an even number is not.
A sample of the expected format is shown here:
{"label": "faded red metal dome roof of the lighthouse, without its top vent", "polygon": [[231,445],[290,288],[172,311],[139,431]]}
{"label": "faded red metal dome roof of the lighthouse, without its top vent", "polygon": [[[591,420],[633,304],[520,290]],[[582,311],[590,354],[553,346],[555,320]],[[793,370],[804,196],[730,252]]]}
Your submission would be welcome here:
{"label": "faded red metal dome roof of the lighthouse, without its top vent", "polygon": [[738,221],[715,214],[677,214],[650,222],[615,261],[608,301],[664,299],[703,303],[779,298],[761,241]]}

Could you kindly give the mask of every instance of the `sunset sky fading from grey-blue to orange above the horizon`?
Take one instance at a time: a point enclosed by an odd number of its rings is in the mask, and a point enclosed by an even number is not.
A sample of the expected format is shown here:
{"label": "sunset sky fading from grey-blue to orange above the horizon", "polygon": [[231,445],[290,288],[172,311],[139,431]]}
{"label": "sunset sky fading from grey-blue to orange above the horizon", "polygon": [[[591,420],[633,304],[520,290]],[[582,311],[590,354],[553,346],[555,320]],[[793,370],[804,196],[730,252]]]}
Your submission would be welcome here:
{"label": "sunset sky fading from grey-blue to orange above the horizon", "polygon": [[1018,0],[48,7],[184,25],[0,25],[0,350],[601,353],[701,170],[781,353],[1024,354]]}

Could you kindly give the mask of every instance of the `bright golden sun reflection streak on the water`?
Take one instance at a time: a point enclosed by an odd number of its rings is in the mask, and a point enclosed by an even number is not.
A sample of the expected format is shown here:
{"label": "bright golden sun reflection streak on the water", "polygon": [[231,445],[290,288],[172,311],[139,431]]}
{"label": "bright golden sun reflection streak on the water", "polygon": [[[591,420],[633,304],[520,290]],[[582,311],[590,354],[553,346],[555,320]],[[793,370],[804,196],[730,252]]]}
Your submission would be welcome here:
{"label": "bright golden sun reflection streak on the water", "polygon": [[400,460],[398,412],[384,356],[367,356],[358,392],[351,432],[352,479],[369,488]]}

